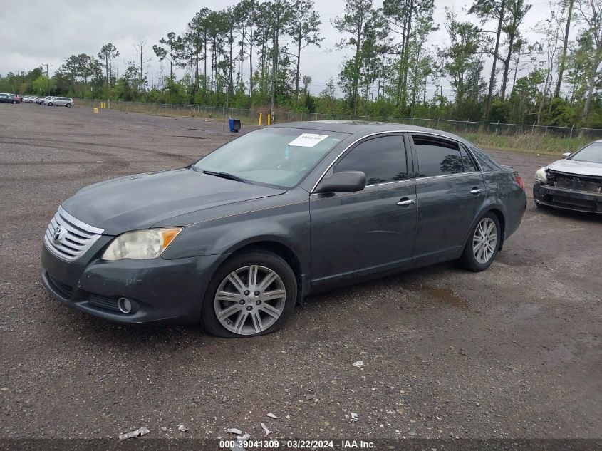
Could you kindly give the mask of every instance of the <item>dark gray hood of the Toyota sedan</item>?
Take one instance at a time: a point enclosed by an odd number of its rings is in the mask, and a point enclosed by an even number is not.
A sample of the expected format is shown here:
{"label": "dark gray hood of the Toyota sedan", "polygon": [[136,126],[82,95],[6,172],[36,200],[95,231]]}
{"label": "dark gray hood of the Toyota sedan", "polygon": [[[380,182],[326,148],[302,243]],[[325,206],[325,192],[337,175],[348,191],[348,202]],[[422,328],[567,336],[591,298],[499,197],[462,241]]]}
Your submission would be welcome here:
{"label": "dark gray hood of the Toyota sedan", "polygon": [[105,229],[107,235],[118,235],[180,214],[284,192],[186,167],[96,183],[63,202],[63,208],[86,224]]}

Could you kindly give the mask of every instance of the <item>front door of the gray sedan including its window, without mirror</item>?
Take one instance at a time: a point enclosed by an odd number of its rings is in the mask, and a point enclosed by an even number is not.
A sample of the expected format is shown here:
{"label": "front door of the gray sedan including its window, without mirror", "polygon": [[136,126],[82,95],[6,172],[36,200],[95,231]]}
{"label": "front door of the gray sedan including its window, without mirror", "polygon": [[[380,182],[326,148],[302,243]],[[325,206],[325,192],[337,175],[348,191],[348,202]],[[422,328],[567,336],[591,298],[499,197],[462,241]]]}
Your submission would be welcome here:
{"label": "front door of the gray sedan including its window, without mirror", "polygon": [[363,191],[310,196],[314,285],[408,266],[412,260],[416,188],[408,178],[412,171],[403,135],[359,142],[326,176],[348,170],[365,173]]}

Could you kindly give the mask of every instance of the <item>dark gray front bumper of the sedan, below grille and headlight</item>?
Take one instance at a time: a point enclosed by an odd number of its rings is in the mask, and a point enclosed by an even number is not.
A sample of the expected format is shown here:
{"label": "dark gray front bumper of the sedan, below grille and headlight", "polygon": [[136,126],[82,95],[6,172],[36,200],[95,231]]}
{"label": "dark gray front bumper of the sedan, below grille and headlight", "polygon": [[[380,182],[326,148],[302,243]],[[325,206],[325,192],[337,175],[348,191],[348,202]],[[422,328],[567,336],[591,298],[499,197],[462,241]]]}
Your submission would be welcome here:
{"label": "dark gray front bumper of the sedan, below grille and headlight", "polygon": [[[115,323],[196,323],[207,284],[223,258],[92,259],[84,264],[63,261],[43,246],[42,282],[63,304]],[[130,313],[118,308],[122,297],[130,300]]]}

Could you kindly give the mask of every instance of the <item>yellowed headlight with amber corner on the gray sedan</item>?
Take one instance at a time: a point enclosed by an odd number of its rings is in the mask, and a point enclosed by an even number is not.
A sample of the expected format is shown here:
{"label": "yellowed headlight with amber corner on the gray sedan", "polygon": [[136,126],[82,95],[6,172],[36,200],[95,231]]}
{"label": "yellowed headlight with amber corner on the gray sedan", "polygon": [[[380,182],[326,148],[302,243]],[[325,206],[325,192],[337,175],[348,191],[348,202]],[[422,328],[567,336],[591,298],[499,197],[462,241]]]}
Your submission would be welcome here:
{"label": "yellowed headlight with amber corner on the gray sedan", "polygon": [[182,232],[182,227],[172,229],[148,229],[126,232],[110,242],[103,260],[156,259]]}

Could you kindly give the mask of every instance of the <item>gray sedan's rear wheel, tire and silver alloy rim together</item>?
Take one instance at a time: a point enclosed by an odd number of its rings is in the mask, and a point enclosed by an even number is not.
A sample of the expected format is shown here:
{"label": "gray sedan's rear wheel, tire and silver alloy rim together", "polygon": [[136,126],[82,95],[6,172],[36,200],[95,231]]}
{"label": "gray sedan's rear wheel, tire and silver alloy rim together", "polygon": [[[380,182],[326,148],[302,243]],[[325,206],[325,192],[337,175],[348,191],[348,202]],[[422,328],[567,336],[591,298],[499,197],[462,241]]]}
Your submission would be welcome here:
{"label": "gray sedan's rear wheel, tire and silver alloy rim together", "polygon": [[501,238],[499,219],[494,213],[486,213],[472,227],[460,261],[470,271],[479,272],[491,266]]}

